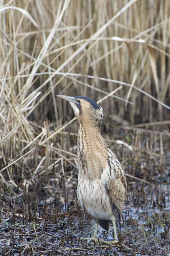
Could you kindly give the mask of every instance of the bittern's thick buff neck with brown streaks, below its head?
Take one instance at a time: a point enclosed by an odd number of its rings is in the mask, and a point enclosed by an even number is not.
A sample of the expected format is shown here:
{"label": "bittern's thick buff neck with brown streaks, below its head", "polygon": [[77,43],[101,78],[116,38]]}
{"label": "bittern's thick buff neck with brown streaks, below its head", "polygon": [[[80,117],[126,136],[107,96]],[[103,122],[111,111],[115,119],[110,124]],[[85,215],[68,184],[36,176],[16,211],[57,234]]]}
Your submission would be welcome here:
{"label": "bittern's thick buff neck with brown streaks, below its head", "polygon": [[107,163],[107,145],[100,128],[91,123],[79,122],[78,160],[79,175],[90,180],[98,179]]}

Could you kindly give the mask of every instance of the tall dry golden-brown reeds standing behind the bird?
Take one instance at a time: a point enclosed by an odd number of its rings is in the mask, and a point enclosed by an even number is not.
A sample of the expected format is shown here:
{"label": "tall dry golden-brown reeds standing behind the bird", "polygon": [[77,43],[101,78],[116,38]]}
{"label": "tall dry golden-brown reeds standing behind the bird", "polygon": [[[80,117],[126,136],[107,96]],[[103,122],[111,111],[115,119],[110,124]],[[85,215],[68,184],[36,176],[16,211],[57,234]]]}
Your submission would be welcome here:
{"label": "tall dry golden-brown reeds standing behind the bird", "polygon": [[[148,133],[146,151],[162,164],[164,141],[170,135],[169,17],[169,0],[3,1],[1,181],[14,189],[20,180],[20,186],[26,186],[25,177],[34,181],[59,163],[65,175],[63,161],[75,168],[77,156],[71,148],[76,126],[64,131],[75,119],[66,121],[73,113],[55,95],[87,95],[97,101],[120,85],[101,104],[103,133],[112,140],[106,139],[143,152],[141,133]],[[125,133],[133,130],[131,141],[124,143],[115,127],[113,134],[112,119]],[[160,152],[153,150],[158,141]]]}

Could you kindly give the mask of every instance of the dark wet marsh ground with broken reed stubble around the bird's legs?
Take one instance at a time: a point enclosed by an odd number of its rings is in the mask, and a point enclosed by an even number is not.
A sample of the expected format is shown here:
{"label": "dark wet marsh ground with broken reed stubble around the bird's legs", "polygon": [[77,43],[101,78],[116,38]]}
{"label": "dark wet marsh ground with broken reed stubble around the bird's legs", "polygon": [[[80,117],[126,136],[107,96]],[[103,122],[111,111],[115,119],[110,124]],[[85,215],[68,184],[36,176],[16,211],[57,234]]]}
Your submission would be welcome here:
{"label": "dark wet marsh ground with broken reed stubble around the bird's legs", "polygon": [[1,182],[0,255],[169,256],[168,151],[164,151],[164,165],[160,165],[157,153],[150,156],[145,151],[141,153],[141,149],[140,155],[120,149],[116,154],[127,174],[142,179],[127,177],[127,201],[119,244],[108,246],[100,243],[101,239],[112,240],[111,225],[108,233],[99,228],[99,243],[88,240],[94,232],[94,220],[78,205],[78,170],[73,165],[64,163],[63,172],[59,163],[54,169],[40,170],[33,178],[35,167],[30,163],[29,171],[26,170],[23,177],[17,170],[13,172],[18,187],[12,183],[8,187]]}

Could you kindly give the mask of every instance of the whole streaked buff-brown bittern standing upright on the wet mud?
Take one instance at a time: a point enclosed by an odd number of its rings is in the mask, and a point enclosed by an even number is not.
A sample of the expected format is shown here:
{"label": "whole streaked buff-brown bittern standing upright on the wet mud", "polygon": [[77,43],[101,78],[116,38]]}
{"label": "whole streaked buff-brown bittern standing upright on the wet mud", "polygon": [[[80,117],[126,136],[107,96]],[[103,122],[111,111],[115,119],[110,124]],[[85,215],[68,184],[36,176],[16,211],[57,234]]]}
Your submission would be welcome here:
{"label": "whole streaked buff-brown bittern standing upright on the wet mud", "polygon": [[121,229],[126,197],[126,177],[116,155],[101,135],[103,110],[94,100],[82,96],[57,95],[70,102],[77,117],[78,186],[80,206],[95,219],[94,240],[98,224],[105,230],[113,223],[113,243],[118,242],[116,224]]}

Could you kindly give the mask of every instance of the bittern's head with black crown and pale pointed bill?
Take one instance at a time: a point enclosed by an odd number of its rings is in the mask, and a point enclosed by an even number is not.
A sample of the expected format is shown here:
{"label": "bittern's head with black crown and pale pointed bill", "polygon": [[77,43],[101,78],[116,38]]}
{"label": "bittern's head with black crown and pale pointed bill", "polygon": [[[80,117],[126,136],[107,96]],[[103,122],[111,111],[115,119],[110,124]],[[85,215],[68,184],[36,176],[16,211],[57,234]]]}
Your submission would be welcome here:
{"label": "bittern's head with black crown and pale pointed bill", "polygon": [[91,122],[91,125],[99,127],[102,124],[103,109],[93,99],[83,96],[57,96],[70,102],[75,116],[82,125]]}

